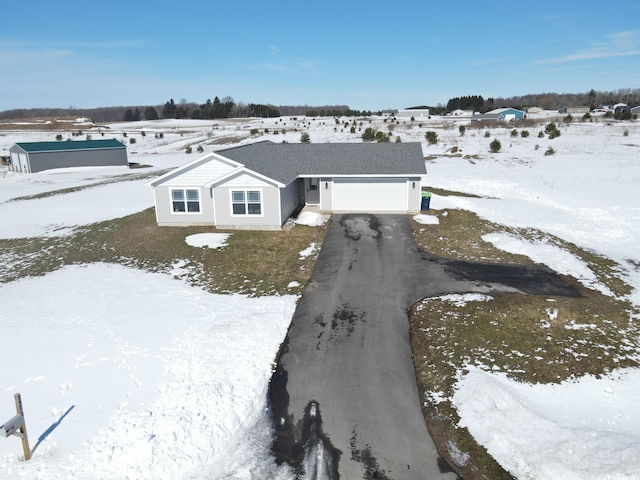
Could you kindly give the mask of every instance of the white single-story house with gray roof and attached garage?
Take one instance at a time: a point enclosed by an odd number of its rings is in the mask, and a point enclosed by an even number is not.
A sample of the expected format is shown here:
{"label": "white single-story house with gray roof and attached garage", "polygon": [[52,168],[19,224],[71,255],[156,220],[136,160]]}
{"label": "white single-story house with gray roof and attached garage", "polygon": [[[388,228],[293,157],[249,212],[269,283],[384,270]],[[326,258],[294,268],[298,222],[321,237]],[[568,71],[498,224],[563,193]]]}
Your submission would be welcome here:
{"label": "white single-story house with gray roof and attached garage", "polygon": [[425,173],[420,143],[266,141],[208,153],[147,185],[160,226],[278,230],[305,205],[418,212]]}

